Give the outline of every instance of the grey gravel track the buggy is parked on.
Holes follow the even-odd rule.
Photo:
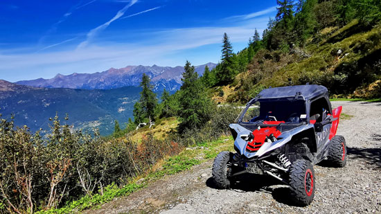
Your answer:
[[[333,102],[339,105],[349,115],[337,133],[346,138],[348,162],[345,168],[314,166],[309,206],[292,206],[287,186],[267,176],[245,175],[218,190],[213,161],[207,161],[87,213],[381,213],[381,103]]]

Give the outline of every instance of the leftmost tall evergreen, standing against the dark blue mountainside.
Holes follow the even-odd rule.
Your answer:
[[[142,123],[145,118],[154,120],[154,109],[157,105],[157,98],[152,91],[153,86],[150,84],[150,77],[143,73],[140,86],[142,91],[140,93],[139,102],[134,105],[134,118],[136,123]]]

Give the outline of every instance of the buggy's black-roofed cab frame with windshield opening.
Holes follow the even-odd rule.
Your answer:
[[[258,116],[251,118],[250,121],[243,120],[253,107],[258,109]],[[258,126],[296,127],[319,123],[332,114],[326,87],[306,84],[264,89],[256,98],[247,102],[236,123],[249,130],[254,130]],[[278,121],[278,123],[263,123],[264,121]]]

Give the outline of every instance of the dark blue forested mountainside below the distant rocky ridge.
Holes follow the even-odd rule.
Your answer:
[[[134,103],[139,100],[141,88],[118,89],[49,89],[30,87],[0,80],[0,114],[2,118],[15,116],[15,125],[27,125],[31,131],[49,129],[49,118],[57,113],[61,124],[92,130],[100,134],[114,132],[114,120],[123,124],[133,118]],[[64,121],[66,114],[69,121]]]

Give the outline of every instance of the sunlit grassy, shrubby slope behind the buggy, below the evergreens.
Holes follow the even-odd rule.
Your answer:
[[[322,84],[331,94],[352,98],[381,96],[381,27],[354,33],[335,41],[335,37],[358,28],[357,19],[343,28],[324,28],[303,48],[290,51],[258,51],[231,84],[228,102],[246,102],[265,87],[294,84]],[[348,34],[348,33],[347,33]]]

